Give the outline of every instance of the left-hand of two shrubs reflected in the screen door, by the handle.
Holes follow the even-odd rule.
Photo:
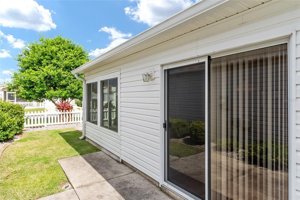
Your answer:
[[[185,119],[170,118],[171,138],[183,138],[189,133],[189,123]]]

